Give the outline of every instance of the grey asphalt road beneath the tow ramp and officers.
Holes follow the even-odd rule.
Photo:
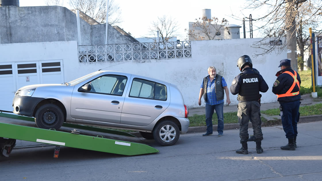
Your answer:
[[[236,154],[241,144],[234,129],[223,137],[181,135],[170,147],[149,140],[160,152],[132,157],[62,147],[53,159],[54,146],[14,149],[0,158],[0,180],[322,180],[322,121],[298,124],[295,151],[279,148],[287,144],[281,126],[262,131],[262,154],[255,142],[248,144],[250,154]]]

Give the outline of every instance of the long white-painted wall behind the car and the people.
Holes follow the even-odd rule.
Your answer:
[[[64,81],[71,81],[80,76],[99,69],[124,71],[167,81],[178,86],[188,108],[198,106],[198,96],[203,77],[207,76],[207,68],[215,66],[217,73],[227,81],[228,88],[236,75],[240,73],[236,66],[237,59],[244,55],[259,53],[260,49],[252,48],[252,44],[260,39],[204,40],[192,41],[192,58],[79,63],[77,42],[43,42],[0,44],[1,62],[63,60]],[[275,73],[279,61],[286,58],[282,54],[267,54],[252,57],[253,67],[260,71],[269,90],[262,93],[262,102],[276,101],[271,92],[276,80]],[[237,104],[237,95],[230,94],[232,105]],[[226,96],[225,96],[226,102]],[[204,102],[202,104],[204,106]]]

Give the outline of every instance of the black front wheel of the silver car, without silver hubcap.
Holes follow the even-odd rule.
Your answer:
[[[36,111],[35,122],[38,128],[59,129],[64,122],[64,114],[55,104],[45,104]]]

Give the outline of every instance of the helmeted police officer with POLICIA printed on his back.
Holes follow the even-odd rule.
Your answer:
[[[238,94],[238,122],[239,122],[239,136],[242,148],[236,150],[239,154],[248,154],[248,122],[249,120],[253,126],[253,132],[256,142],[256,152],[263,153],[261,148],[261,140],[263,134],[261,131],[260,119],[260,97],[259,92],[266,92],[268,85],[260,75],[259,71],[252,68],[253,64],[248,55],[239,57],[237,67],[242,72],[235,77],[230,86],[230,91],[233,95]]]

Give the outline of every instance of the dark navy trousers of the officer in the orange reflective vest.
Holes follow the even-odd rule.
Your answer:
[[[280,102],[282,125],[286,138],[294,138],[298,135],[298,109],[300,101]]]

